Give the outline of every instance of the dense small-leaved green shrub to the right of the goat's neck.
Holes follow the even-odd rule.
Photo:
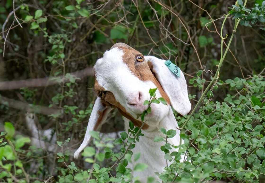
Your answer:
[[[178,152],[165,154],[165,159],[173,163],[159,175],[162,181],[183,181],[190,177],[189,181],[198,182],[201,178],[234,177],[257,182],[265,173],[265,106],[260,101],[265,97],[265,81],[254,75],[248,80],[235,78],[226,83],[239,92],[228,94],[222,103],[205,99],[187,124],[190,133],[180,134],[183,143],[178,146]],[[180,124],[185,119],[179,118]],[[161,131],[168,135],[165,129]],[[169,153],[171,146],[166,143],[161,150]],[[179,161],[181,154],[187,157],[185,162]]]

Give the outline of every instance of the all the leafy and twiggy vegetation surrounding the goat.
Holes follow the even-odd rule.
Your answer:
[[[91,68],[116,42],[175,62],[198,104],[192,115],[175,114],[183,143],[172,154],[174,144],[161,147],[173,162],[161,182],[263,182],[264,11],[262,0],[2,0],[1,182],[137,181],[131,171],[146,166],[130,149],[141,133],[132,124],[121,133],[116,110],[73,159],[96,97]],[[155,141],[175,135],[161,131]],[[184,152],[192,164],[179,163]]]

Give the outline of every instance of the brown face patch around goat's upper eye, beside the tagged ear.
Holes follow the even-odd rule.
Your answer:
[[[136,51],[135,49],[123,49],[123,62],[126,63],[126,65],[129,67],[131,72],[140,80],[142,81],[151,81],[153,82],[156,87],[158,88],[161,96],[166,100],[168,104],[170,104],[169,97],[167,96],[166,92],[163,90],[161,84],[157,81],[154,74],[152,73],[153,65],[151,62],[146,62],[145,60],[143,62],[136,61],[137,56],[144,56]]]

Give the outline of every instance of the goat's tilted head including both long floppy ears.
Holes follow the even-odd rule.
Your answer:
[[[164,62],[165,60],[153,56],[144,57],[124,43],[116,43],[104,53],[103,58],[98,59],[93,68],[98,98],[89,118],[84,141],[74,158],[89,143],[89,131],[102,125],[112,108],[118,108],[135,126],[141,126],[142,121],[137,116],[148,107],[143,103],[150,99],[150,88],[158,88],[156,97],[163,97],[167,105],[151,104],[151,113],[144,117],[144,130],[149,126],[158,126],[169,113],[170,104],[182,115],[190,111],[191,104],[183,73],[177,78]]]

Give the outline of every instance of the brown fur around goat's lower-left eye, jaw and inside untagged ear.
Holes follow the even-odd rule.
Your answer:
[[[99,85],[99,83],[96,79],[95,79],[95,90],[105,91],[105,89]],[[107,91],[105,93],[105,97],[102,98],[101,101],[102,101],[102,105],[104,105],[104,106],[111,106],[112,108],[117,108],[124,117],[126,117],[127,119],[129,119],[133,122],[134,126],[138,126],[138,127],[142,126],[142,121],[134,119],[126,111],[126,109],[115,99],[113,93]],[[105,111],[106,111],[106,109],[103,112],[99,111],[100,117],[99,117],[98,121],[96,122],[95,129],[98,128],[98,126],[100,125],[100,121],[102,120]],[[149,126],[147,124],[144,124],[143,130],[148,129],[148,127]]]

